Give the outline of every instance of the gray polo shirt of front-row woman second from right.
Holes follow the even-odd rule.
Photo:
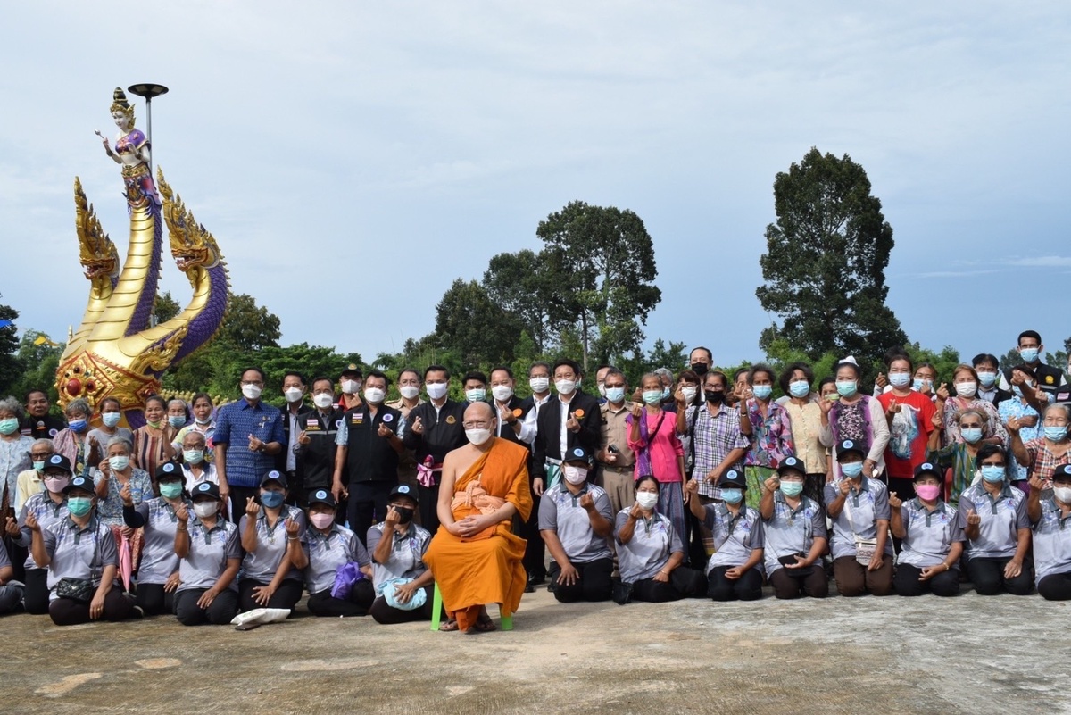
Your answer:
[[[976,484],[960,495],[960,523],[966,529],[967,512],[982,517],[978,524],[978,538],[964,544],[967,559],[1010,559],[1019,546],[1019,530],[1030,528],[1026,513],[1026,495],[1007,482],[994,499],[985,487]]]

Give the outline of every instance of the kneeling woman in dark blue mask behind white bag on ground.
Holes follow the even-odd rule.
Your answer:
[[[293,566],[301,549],[305,515],[297,506],[283,504],[286,477],[272,470],[260,480],[260,504],[251,497],[245,516],[238,524],[242,535],[242,578],[238,582],[238,605],[254,608],[288,608],[301,600],[304,584]]]

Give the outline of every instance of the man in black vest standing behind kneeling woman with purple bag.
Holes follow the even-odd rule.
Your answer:
[[[313,380],[313,406],[301,419],[301,431],[298,432],[297,457],[298,471],[304,482],[303,497],[307,502],[308,495],[323,489],[332,491],[334,485],[335,436],[342,424],[342,412],[334,405],[334,380],[329,377],[318,377]],[[348,482],[343,472],[343,486]],[[336,500],[337,501],[337,500]],[[305,503],[303,502],[303,503]],[[335,521],[346,521],[346,508],[343,502],[337,502]]]

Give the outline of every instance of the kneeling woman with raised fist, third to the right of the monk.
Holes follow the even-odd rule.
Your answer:
[[[699,482],[685,485],[688,507],[714,539],[707,564],[707,595],[714,600],[755,600],[763,597],[763,519],[743,503],[748,488],[743,472],[727,470],[718,480],[722,503],[699,503]]]

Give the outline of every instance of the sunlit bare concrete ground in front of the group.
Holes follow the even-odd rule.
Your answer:
[[[246,633],[21,614],[0,620],[0,712],[1059,713],[1069,620],[1071,604],[966,588],[628,606],[540,590],[513,632],[480,635],[303,607]]]

